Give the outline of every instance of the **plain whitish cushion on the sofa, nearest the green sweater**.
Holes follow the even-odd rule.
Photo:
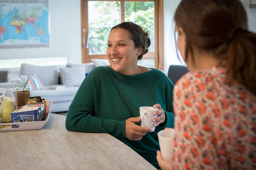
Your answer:
[[[66,87],[80,86],[85,78],[83,66],[60,68],[62,83]]]

